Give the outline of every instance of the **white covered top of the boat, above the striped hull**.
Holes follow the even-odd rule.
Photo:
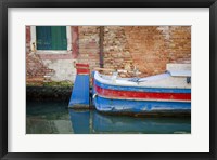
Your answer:
[[[117,74],[104,76],[95,71],[94,79],[101,83],[123,86],[142,86],[142,88],[178,88],[191,89],[190,64],[168,65],[165,74],[150,76],[145,78],[119,78]]]

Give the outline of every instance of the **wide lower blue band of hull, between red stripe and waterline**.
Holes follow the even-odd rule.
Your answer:
[[[97,96],[95,108],[104,112],[183,112],[191,111],[190,102],[149,102],[130,99],[110,99]]]

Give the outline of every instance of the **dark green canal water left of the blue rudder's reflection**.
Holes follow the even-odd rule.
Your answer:
[[[27,102],[27,134],[72,134],[67,104],[61,102]]]

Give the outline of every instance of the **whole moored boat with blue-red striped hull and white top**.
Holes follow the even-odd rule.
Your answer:
[[[92,101],[104,114],[190,116],[191,64],[167,64],[165,72],[145,78],[94,71]]]

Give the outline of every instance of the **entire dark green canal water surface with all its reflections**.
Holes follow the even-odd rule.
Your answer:
[[[190,134],[191,118],[138,118],[73,110],[65,102],[27,102],[27,134]]]

